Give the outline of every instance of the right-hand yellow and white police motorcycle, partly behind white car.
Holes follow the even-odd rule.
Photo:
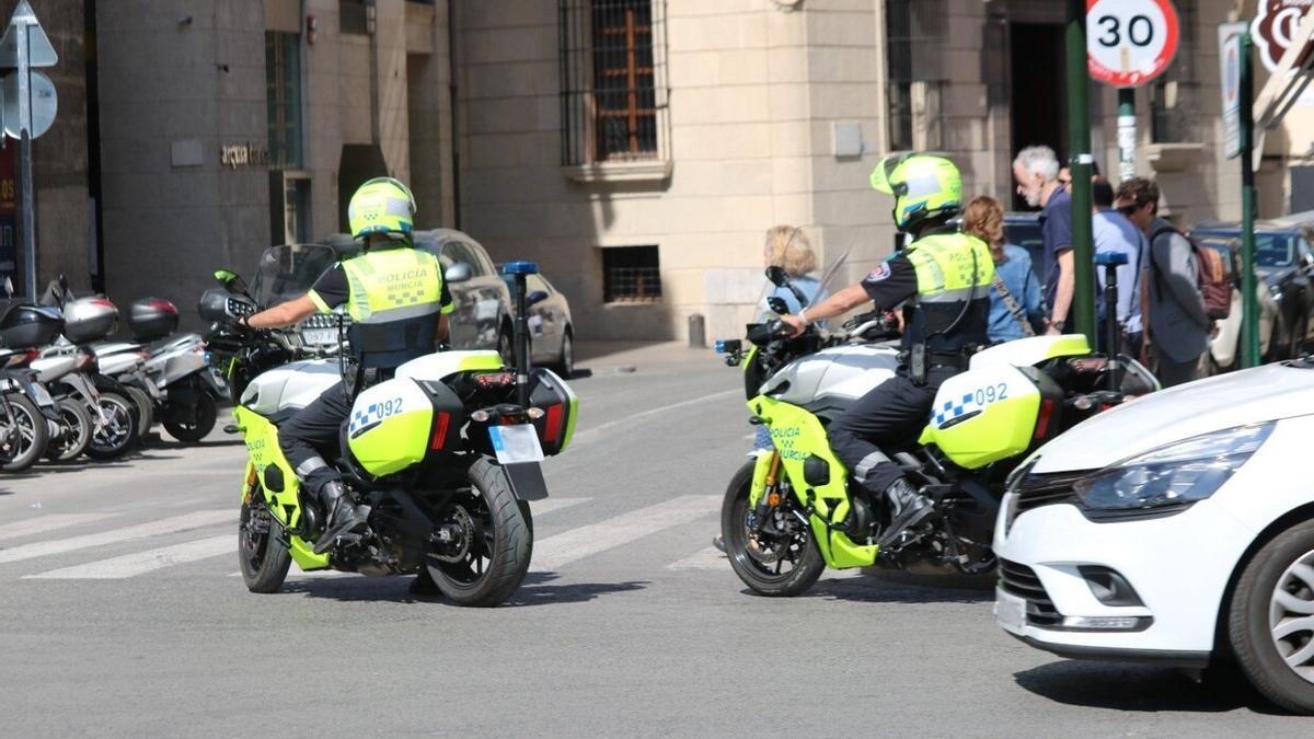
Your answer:
[[[892,323],[890,314],[869,313],[846,323],[840,341],[867,331],[887,337]],[[966,372],[941,385],[921,435],[891,450],[936,513],[882,548],[884,497],[850,484],[827,427],[892,375],[897,359],[882,372],[851,372],[838,362],[808,367],[834,342],[815,325],[790,338],[777,318],[750,325],[748,345],[719,346],[728,364],[745,367],[750,422],[765,426],[773,444],[732,477],[721,505],[731,565],[758,594],[804,593],[827,567],[992,571],[989,546],[1009,473],[1064,430],[1159,388],[1139,363],[1096,355],[1083,335],[1018,339],[974,354]]]

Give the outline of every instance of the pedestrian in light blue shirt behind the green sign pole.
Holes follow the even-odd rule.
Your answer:
[[[1096,254],[1123,254],[1127,263],[1117,268],[1118,274],[1118,314],[1116,317],[1122,329],[1123,343],[1121,351],[1131,355],[1141,355],[1141,272],[1146,252],[1146,234],[1126,216],[1113,208],[1113,185],[1104,178],[1095,178],[1091,181],[1091,196],[1095,204],[1095,217],[1091,226],[1095,235]],[[1108,316],[1105,316],[1105,301],[1102,298],[1104,270],[1096,270],[1101,298],[1096,304],[1099,308],[1100,330],[1099,342],[1108,337]]]

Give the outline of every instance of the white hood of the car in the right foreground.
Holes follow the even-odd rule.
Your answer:
[[[1101,413],[1035,452],[1031,472],[1099,469],[1190,437],[1314,414],[1314,367],[1268,364],[1188,383]]]

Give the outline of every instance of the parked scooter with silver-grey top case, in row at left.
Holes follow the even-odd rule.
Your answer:
[[[101,296],[74,297],[63,275],[50,281],[39,302],[64,320],[62,335],[26,363],[60,410],[59,433],[46,456],[60,462],[83,454],[96,460],[118,459],[139,441],[145,397],[141,388],[129,389],[105,373],[92,348],[117,330],[118,308]],[[145,381],[139,368],[141,359],[133,358],[125,373]]]

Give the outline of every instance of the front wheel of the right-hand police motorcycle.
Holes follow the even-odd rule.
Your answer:
[[[754,593],[769,597],[792,597],[803,594],[816,584],[821,573],[825,572],[825,560],[821,551],[812,540],[812,529],[804,527],[802,534],[796,534],[788,543],[796,559],[794,567],[787,572],[783,565],[787,561],[783,556],[775,560],[775,567],[754,558],[749,551],[750,538],[748,529],[749,492],[753,488],[753,468],[756,460],[749,460],[738,472],[731,477],[731,484],[725,489],[725,500],[721,502],[721,539],[725,542],[725,556],[731,560],[735,575]],[[786,497],[782,508],[792,505],[795,500]],[[761,551],[761,548],[758,548]]]

